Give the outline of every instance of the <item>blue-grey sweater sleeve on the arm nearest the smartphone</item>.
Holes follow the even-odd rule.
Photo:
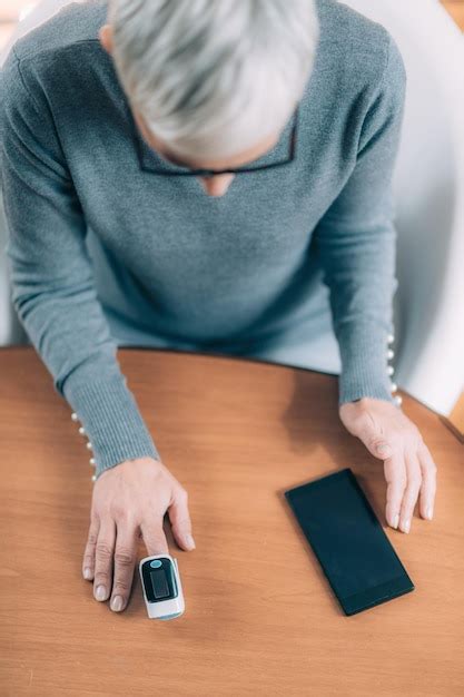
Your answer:
[[[339,405],[363,396],[394,401],[387,373],[397,288],[392,176],[405,87],[404,62],[388,35],[383,72],[361,127],[356,164],[315,230],[342,362]]]

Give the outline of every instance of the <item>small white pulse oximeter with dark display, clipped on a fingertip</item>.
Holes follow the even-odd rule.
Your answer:
[[[150,619],[174,619],[182,615],[185,601],[177,559],[170,554],[144,557],[139,572]]]

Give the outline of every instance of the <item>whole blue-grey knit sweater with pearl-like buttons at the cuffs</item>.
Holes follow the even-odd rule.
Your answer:
[[[246,355],[305,322],[320,272],[342,360],[339,403],[393,399],[391,181],[405,69],[381,24],[335,0],[317,8],[296,159],[237,175],[223,197],[207,196],[196,177],[151,170],[182,168],[134,129],[98,40],[106,2],[66,7],[8,56],[0,164],[12,298],[86,430],[97,477],[124,460],[160,458],[120,371],[109,312],[172,347]],[[292,126],[256,165],[287,156]],[[90,228],[112,274],[99,288]]]

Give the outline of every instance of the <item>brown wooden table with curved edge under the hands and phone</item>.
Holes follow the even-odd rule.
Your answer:
[[[2,348],[2,697],[464,695],[464,450],[436,414],[402,393],[438,465],[435,518],[404,534],[385,523],[382,461],[339,422],[336,377],[181,351],[119,361],[189,492],[196,550],[165,523],[185,615],[149,620],[137,570],[124,612],[93,599],[86,439],[34,350]],[[283,497],[345,467],[416,585],[352,617]]]

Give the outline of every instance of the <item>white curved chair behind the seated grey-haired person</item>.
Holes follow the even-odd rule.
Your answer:
[[[20,22],[9,47],[68,2],[42,1]],[[464,39],[438,0],[346,0],[346,4],[388,29],[406,66],[405,119],[394,176],[398,230],[394,380],[447,415],[464,384]],[[0,243],[3,267],[1,229]],[[4,281],[0,322],[1,317],[0,344],[16,343],[20,330]],[[322,370],[329,367],[324,364]]]

